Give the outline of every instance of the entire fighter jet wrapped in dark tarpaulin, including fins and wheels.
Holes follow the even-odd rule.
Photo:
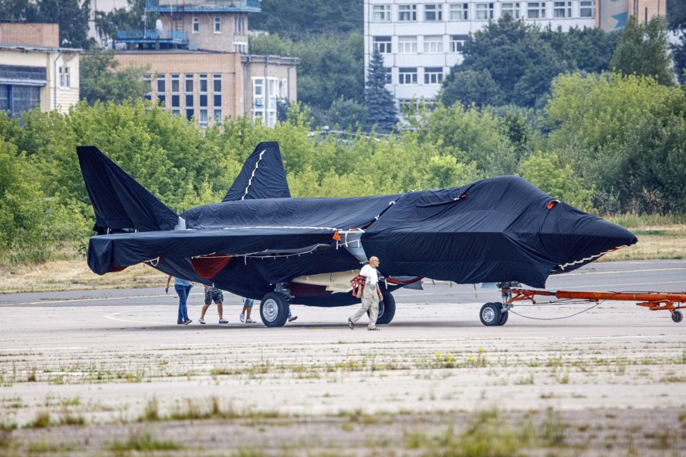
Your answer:
[[[267,326],[290,303],[359,300],[347,280],[381,261],[391,292],[433,278],[544,287],[603,254],[636,243],[620,226],[585,214],[516,176],[406,194],[292,198],[279,145],[260,143],[224,201],[177,215],[94,146],[77,148],[96,214],[88,264],[95,273],[146,262],[173,276],[262,300]]]

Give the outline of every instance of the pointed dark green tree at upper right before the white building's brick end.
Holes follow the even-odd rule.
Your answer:
[[[651,76],[660,84],[674,84],[672,56],[667,30],[660,18],[639,24],[632,16],[620,32],[620,41],[610,64],[622,74]]]

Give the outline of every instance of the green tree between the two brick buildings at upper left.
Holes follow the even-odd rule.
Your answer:
[[[144,67],[129,67],[116,71],[119,62],[114,51],[91,51],[81,58],[81,98],[94,104],[96,101],[141,99],[150,91],[149,83],[143,81]]]

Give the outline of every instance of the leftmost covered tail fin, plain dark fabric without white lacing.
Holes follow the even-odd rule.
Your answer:
[[[172,230],[179,216],[95,146],[78,146],[81,174],[95,211],[94,230]]]

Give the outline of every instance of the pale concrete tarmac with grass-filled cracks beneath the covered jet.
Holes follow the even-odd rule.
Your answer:
[[[547,286],[686,291],[686,261],[595,263]],[[297,321],[266,328],[256,303],[258,322],[245,325],[229,293],[229,324],[217,323],[213,305],[201,326],[201,290],[189,298],[189,326],[176,325],[177,297],[162,283],[0,295],[0,422],[26,425],[65,408],[87,423],[134,422],[152,401],[164,415],[212,398],[235,411],[319,417],[686,411],[686,321],[634,303],[608,301],[569,318],[592,304],[523,304],[507,325],[485,327],[479,308],[499,291],[427,283],[394,293],[394,321],[368,332],[364,319],[347,328],[349,307],[292,306]]]

